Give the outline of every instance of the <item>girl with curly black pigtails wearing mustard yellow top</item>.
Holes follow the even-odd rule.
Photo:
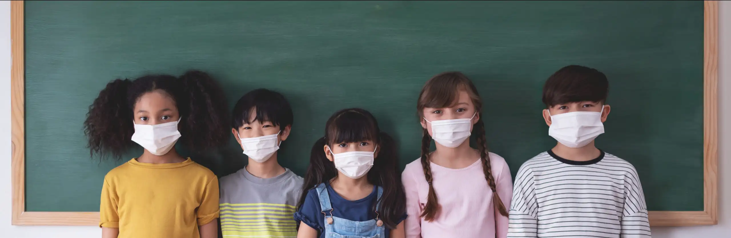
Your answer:
[[[224,145],[222,95],[200,71],[116,79],[99,92],[84,122],[91,154],[120,159],[133,141],[145,148],[104,178],[102,237],[217,237],[216,175],[179,155],[175,142],[192,152]]]

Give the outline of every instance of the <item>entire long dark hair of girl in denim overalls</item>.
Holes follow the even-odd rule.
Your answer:
[[[398,168],[398,153],[393,138],[382,132],[376,118],[361,108],[348,108],[336,112],[325,124],[325,137],[319,138],[312,146],[310,165],[307,167],[303,193],[299,205],[305,202],[307,191],[320,183],[338,176],[335,164],[325,156],[322,148],[327,144],[353,143],[373,140],[379,148],[373,167],[368,171],[368,183],[383,188],[379,215],[389,229],[396,228],[396,221],[406,212],[406,195],[401,184]],[[374,204],[375,206],[375,204]],[[375,207],[374,207],[375,208]]]

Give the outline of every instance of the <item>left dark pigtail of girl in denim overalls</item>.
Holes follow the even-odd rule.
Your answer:
[[[327,139],[323,137],[317,139],[314,146],[312,146],[312,150],[310,152],[310,164],[307,166],[305,181],[302,184],[302,191],[304,192],[300,197],[298,207],[305,202],[308,190],[314,189],[320,183],[330,181],[330,179],[335,178],[338,175],[338,170],[335,168],[335,164],[327,159],[325,151],[322,150],[326,143]]]

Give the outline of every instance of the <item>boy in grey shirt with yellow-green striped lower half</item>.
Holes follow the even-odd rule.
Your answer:
[[[279,92],[258,89],[238,100],[232,116],[231,132],[249,164],[221,178],[221,234],[297,237],[292,214],[303,179],[277,162],[292,130],[292,108]]]

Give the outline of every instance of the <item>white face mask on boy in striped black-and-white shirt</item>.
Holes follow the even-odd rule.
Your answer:
[[[604,133],[603,112],[604,106],[602,106],[602,112],[574,111],[550,116],[551,124],[548,127],[548,135],[564,146],[571,148],[586,146],[591,143],[591,140]],[[550,115],[550,111],[548,114]]]

